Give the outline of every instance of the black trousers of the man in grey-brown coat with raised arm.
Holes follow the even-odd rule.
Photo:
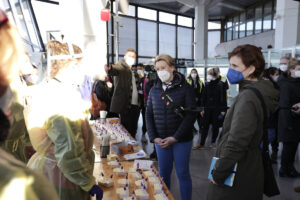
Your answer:
[[[140,109],[136,105],[131,105],[130,109],[121,113],[121,123],[133,138],[135,138],[136,135],[139,116]]]

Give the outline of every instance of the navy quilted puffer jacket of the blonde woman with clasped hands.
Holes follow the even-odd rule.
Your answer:
[[[190,141],[193,139],[193,126],[196,115],[187,112],[184,118],[181,118],[174,112],[174,109],[167,108],[165,102],[161,99],[164,92],[160,80],[150,90],[147,109],[146,124],[150,141],[155,138],[175,137],[179,142]],[[166,89],[171,99],[176,104],[184,108],[195,106],[195,96],[192,87],[186,82],[184,76],[174,72],[174,79],[170,87]]]

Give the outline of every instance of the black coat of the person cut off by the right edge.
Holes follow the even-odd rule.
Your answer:
[[[281,76],[278,81],[280,88],[278,136],[281,142],[300,142],[300,116],[289,108],[300,102],[300,78]]]

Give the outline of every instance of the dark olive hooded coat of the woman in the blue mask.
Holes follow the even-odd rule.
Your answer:
[[[270,81],[242,81],[241,91],[225,117],[216,150],[220,158],[212,176],[218,184],[210,184],[208,200],[260,200],[263,198],[263,164],[260,143],[263,136],[263,108],[255,93],[264,97],[268,113],[278,108],[279,92]],[[225,179],[237,163],[233,187],[224,186]]]

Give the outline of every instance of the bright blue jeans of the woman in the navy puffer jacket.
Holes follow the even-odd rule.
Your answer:
[[[159,174],[164,179],[168,188],[170,188],[171,185],[173,161],[175,162],[176,173],[180,185],[181,200],[192,199],[192,179],[189,165],[191,148],[192,141],[178,142],[169,148],[160,148],[155,144]]]

